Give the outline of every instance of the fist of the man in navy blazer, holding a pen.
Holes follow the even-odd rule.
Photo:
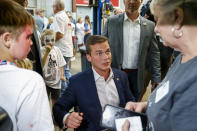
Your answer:
[[[72,112],[66,119],[65,124],[68,128],[78,128],[83,120],[83,113]]]

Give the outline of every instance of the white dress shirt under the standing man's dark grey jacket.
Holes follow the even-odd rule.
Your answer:
[[[125,13],[123,22],[123,69],[137,69],[140,45],[140,19],[132,21]]]

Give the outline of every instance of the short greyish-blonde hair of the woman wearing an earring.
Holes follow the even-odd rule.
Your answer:
[[[176,22],[176,9],[181,8],[184,13],[182,24],[197,24],[197,0],[152,0],[150,8],[153,14],[161,12],[160,17],[167,23]]]

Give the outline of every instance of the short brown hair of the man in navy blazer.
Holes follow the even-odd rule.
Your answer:
[[[88,38],[88,40],[86,41],[86,54],[90,54],[91,52],[91,45],[95,45],[95,44],[100,44],[103,42],[108,42],[108,38],[105,36],[100,36],[100,35],[92,35]]]

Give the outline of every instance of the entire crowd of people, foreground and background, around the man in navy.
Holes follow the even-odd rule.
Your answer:
[[[105,105],[147,115],[148,131],[195,131],[196,0],[123,0],[101,35],[54,0],[33,16],[28,0],[0,1],[0,109],[13,131],[106,130]],[[18,15],[20,14],[20,15]],[[71,76],[81,46],[91,67]],[[174,55],[178,52],[178,55]],[[151,81],[152,93],[140,102]],[[52,101],[52,110],[49,101]],[[73,112],[69,112],[74,108]],[[0,123],[2,129],[3,122]],[[122,131],[129,131],[128,120]]]

